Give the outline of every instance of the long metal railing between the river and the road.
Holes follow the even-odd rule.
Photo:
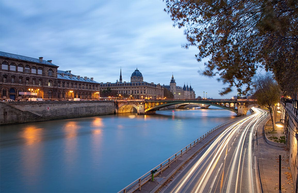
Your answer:
[[[253,112],[254,113],[254,112]],[[147,183],[148,181],[151,180],[152,177],[152,173],[151,171],[156,170],[156,173],[153,174],[154,177],[158,174],[162,174],[162,172],[167,169],[168,167],[170,167],[170,164],[173,163],[174,161],[176,162],[177,159],[179,157],[182,157],[185,153],[187,153],[188,150],[190,150],[193,146],[195,146],[196,144],[198,144],[199,142],[201,142],[204,138],[206,138],[208,135],[210,135],[212,132],[214,132],[216,129],[221,128],[224,125],[227,125],[229,123],[238,121],[240,119],[243,119],[245,117],[248,117],[251,114],[246,114],[244,116],[241,117],[237,117],[235,119],[231,119],[229,121],[226,121],[220,125],[217,125],[216,127],[212,128],[210,131],[208,131],[207,133],[205,133],[204,135],[202,135],[200,138],[194,140],[193,142],[191,142],[189,145],[187,145],[185,148],[181,149],[180,151],[178,151],[177,153],[175,153],[173,156],[169,157],[168,159],[166,159],[164,162],[162,162],[161,164],[157,165],[156,167],[154,167],[152,170],[148,171],[147,173],[145,173],[144,175],[142,175],[140,178],[136,179],[135,181],[133,181],[132,183],[130,183],[128,186],[126,186],[125,188],[123,188],[122,190],[120,190],[118,193],[127,193],[127,192],[134,192],[137,189],[141,190],[141,187]]]

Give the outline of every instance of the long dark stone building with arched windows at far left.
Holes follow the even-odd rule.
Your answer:
[[[100,83],[71,71],[58,70],[52,60],[44,60],[0,51],[0,100],[26,98],[66,100],[99,97]]]

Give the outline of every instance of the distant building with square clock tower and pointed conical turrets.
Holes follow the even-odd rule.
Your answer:
[[[190,87],[188,87],[188,84],[187,86],[185,86],[184,83],[183,87],[176,86],[173,75],[170,81],[170,85],[164,85],[164,87],[173,93],[174,99],[195,99],[195,91],[193,90],[191,85]]]

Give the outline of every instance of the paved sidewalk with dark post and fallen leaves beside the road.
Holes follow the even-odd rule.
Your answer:
[[[289,151],[269,145],[264,139],[264,120],[257,130],[257,156],[263,192],[295,192],[292,181]],[[279,190],[279,155],[281,155],[281,191]]]

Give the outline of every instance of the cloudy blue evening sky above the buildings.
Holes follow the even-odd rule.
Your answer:
[[[188,84],[197,96],[220,96],[222,82],[202,76],[195,47],[173,27],[162,0],[0,0],[0,51],[52,60],[58,70],[97,82],[130,82],[138,68],[144,81]],[[205,92],[205,95],[203,94]]]

